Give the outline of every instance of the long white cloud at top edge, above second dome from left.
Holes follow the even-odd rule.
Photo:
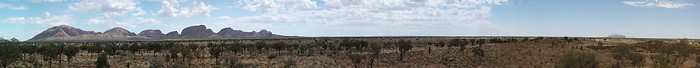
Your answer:
[[[123,16],[127,13],[133,13],[134,16],[145,14],[137,4],[132,0],[80,0],[70,4],[68,9],[101,13],[107,17]]]

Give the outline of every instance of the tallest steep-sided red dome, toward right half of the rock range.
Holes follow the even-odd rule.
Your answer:
[[[201,38],[201,37],[209,37],[215,35],[214,31],[211,31],[211,29],[207,29],[207,26],[204,25],[196,25],[196,26],[190,26],[185,29],[182,29],[182,33],[180,34],[180,37],[183,38]]]

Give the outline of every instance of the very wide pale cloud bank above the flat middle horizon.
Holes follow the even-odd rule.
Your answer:
[[[229,18],[235,23],[325,23],[357,25],[489,26],[491,6],[508,0],[241,0],[261,15]]]

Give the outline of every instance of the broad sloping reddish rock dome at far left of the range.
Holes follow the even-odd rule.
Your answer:
[[[49,29],[44,30],[43,32],[35,35],[29,40],[42,40],[46,38],[61,38],[61,37],[74,37],[74,36],[80,36],[80,35],[95,35],[99,34],[94,31],[83,31],[81,29],[71,27],[68,25],[60,25],[60,26],[55,26],[51,27]]]

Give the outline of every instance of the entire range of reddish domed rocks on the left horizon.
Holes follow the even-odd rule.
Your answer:
[[[274,38],[292,37],[273,34],[265,29],[259,32],[245,32],[232,28],[221,29],[218,33],[205,25],[195,25],[182,29],[182,33],[171,31],[163,34],[158,29],[148,29],[135,34],[121,27],[114,27],[104,33],[85,31],[68,25],[54,26],[37,34],[27,41],[79,41],[79,40],[159,40],[159,39],[196,39],[196,38]]]

